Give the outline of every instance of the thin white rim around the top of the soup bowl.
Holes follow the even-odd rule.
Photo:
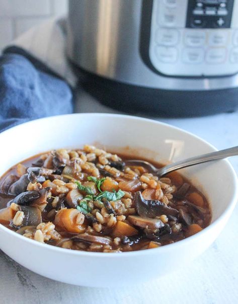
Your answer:
[[[114,113],[72,113],[72,114],[64,114],[64,115],[55,115],[55,116],[49,116],[49,117],[43,117],[43,118],[38,118],[38,119],[34,119],[31,121],[27,121],[25,123],[13,126],[3,132],[0,133],[0,138],[2,136],[2,134],[8,134],[11,132],[14,132],[15,129],[17,128],[21,128],[24,125],[31,125],[36,122],[36,121],[47,121],[47,120],[53,120],[53,119],[58,119],[58,117],[61,118],[67,118],[67,117],[71,117],[71,116],[91,116],[91,117],[103,117],[103,116],[111,116],[111,117],[118,117],[118,118],[124,118],[124,119],[129,119],[129,120],[137,120],[137,121],[147,121],[150,123],[154,123],[157,125],[163,125],[165,127],[168,127],[170,129],[174,129],[174,130],[178,130],[180,132],[183,132],[185,134],[188,134],[190,136],[195,137],[196,139],[198,139],[199,141],[202,141],[203,143],[205,143],[209,148],[211,148],[211,151],[216,151],[217,148],[214,147],[212,144],[210,144],[209,142],[207,142],[206,140],[202,139],[201,137],[186,131],[184,129],[181,129],[179,127],[170,125],[168,123],[165,122],[161,122],[161,121],[157,121],[154,119],[149,119],[149,118],[144,118],[144,117],[140,117],[140,116],[132,116],[132,115],[124,115],[124,114],[114,114]],[[202,231],[200,231],[199,233],[188,237],[186,239],[180,240],[178,242],[172,243],[172,244],[168,244],[168,245],[164,245],[162,247],[158,247],[158,248],[153,248],[153,250],[136,250],[136,251],[127,251],[127,252],[114,252],[114,253],[107,253],[107,252],[88,252],[88,251],[77,251],[77,250],[70,250],[70,249],[66,249],[66,248],[60,248],[60,247],[56,247],[56,246],[52,246],[49,244],[45,244],[45,243],[40,243],[37,242],[35,240],[31,240],[29,238],[23,237],[20,234],[17,234],[15,231],[10,230],[9,228],[5,227],[3,224],[0,224],[0,231],[4,231],[6,233],[9,233],[10,235],[16,237],[16,238],[20,238],[21,240],[24,240],[24,242],[28,242],[29,245],[32,246],[37,246],[39,248],[42,249],[48,249],[48,250],[53,250],[56,251],[58,253],[62,253],[62,254],[69,254],[69,255],[74,255],[74,256],[78,256],[78,257],[98,257],[98,258],[126,258],[126,257],[133,257],[133,256],[140,256],[140,255],[148,255],[148,254],[159,254],[159,253],[166,253],[167,251],[173,250],[175,249],[175,247],[179,248],[181,246],[184,246],[184,244],[186,243],[192,243],[193,240],[195,240],[195,238],[197,238],[198,236],[203,236],[204,234],[206,234],[208,231],[210,231],[211,229],[213,229],[215,226],[217,226],[219,224],[220,221],[222,221],[223,218],[225,218],[227,215],[229,216],[232,212],[232,210],[235,207],[235,204],[238,200],[238,178],[237,175],[233,169],[233,167],[231,166],[230,162],[227,159],[222,160],[223,162],[226,163],[226,166],[229,168],[229,170],[231,171],[231,177],[233,180],[233,183],[235,184],[235,187],[233,189],[233,197],[230,200],[230,202],[228,203],[226,209],[222,212],[222,214],[215,219],[211,224],[209,224],[207,227],[205,227]],[[1,246],[0,246],[1,247]]]

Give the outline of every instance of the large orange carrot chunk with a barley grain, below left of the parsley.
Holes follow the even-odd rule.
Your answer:
[[[55,215],[54,223],[61,229],[66,230],[68,232],[83,233],[86,230],[86,225],[76,223],[78,213],[80,213],[80,211],[74,208],[61,209]]]

